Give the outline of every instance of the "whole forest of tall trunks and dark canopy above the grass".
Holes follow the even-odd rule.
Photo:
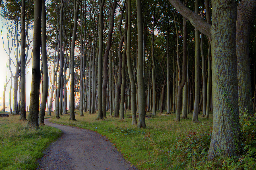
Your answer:
[[[137,128],[147,128],[148,115],[200,124],[212,114],[207,160],[239,158],[241,117],[256,124],[255,17],[249,0],[1,1],[10,75],[3,106],[9,84],[10,114],[26,128],[52,114],[122,122],[129,111]],[[255,146],[246,145],[253,166]]]

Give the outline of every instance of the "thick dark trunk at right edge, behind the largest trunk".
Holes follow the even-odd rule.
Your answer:
[[[256,1],[241,1],[237,9],[236,19],[236,54],[238,74],[238,106],[239,113],[248,110],[253,114],[249,37],[251,26],[256,17]]]

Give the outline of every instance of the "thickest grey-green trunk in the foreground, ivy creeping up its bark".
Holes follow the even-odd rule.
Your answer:
[[[207,158],[240,152],[236,58],[236,1],[212,1],[213,129]]]

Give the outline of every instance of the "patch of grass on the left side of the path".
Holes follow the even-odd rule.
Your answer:
[[[36,159],[41,158],[43,150],[62,134],[59,129],[48,126],[39,130],[25,129],[26,123],[19,120],[19,115],[0,118],[1,170],[35,169]]]

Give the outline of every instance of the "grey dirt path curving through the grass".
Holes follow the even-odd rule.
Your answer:
[[[131,165],[104,136],[90,130],[51,123],[63,135],[39,159],[38,170],[139,170]]]

